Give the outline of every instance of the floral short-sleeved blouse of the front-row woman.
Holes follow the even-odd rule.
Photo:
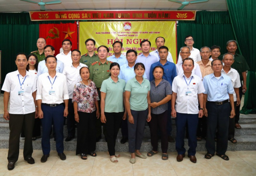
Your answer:
[[[99,94],[94,82],[83,85],[76,83],[73,91],[72,102],[77,102],[77,111],[92,113],[96,110],[95,101],[99,100]]]

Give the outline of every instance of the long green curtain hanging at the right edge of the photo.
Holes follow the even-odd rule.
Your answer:
[[[227,6],[240,53],[245,57],[250,71],[247,74],[247,92],[242,114],[256,113],[256,2],[255,0],[227,0]]]

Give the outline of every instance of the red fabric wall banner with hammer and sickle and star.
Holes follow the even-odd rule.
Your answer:
[[[75,23],[61,24],[40,24],[39,37],[46,39],[47,45],[55,48],[55,56],[60,53],[62,41],[69,39],[72,42],[72,48],[77,49],[77,25]]]

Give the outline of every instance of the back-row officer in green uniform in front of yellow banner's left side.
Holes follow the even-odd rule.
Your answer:
[[[96,42],[93,39],[85,40],[85,45],[88,53],[82,55],[80,62],[87,65],[88,68],[90,68],[90,65],[93,62],[99,61],[98,54],[94,52],[95,44]]]

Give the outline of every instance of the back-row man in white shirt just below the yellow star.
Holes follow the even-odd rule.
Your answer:
[[[71,48],[72,42],[69,39],[65,39],[62,41],[63,52],[57,54],[57,60],[60,60],[64,63],[64,66],[72,64],[71,60]]]

